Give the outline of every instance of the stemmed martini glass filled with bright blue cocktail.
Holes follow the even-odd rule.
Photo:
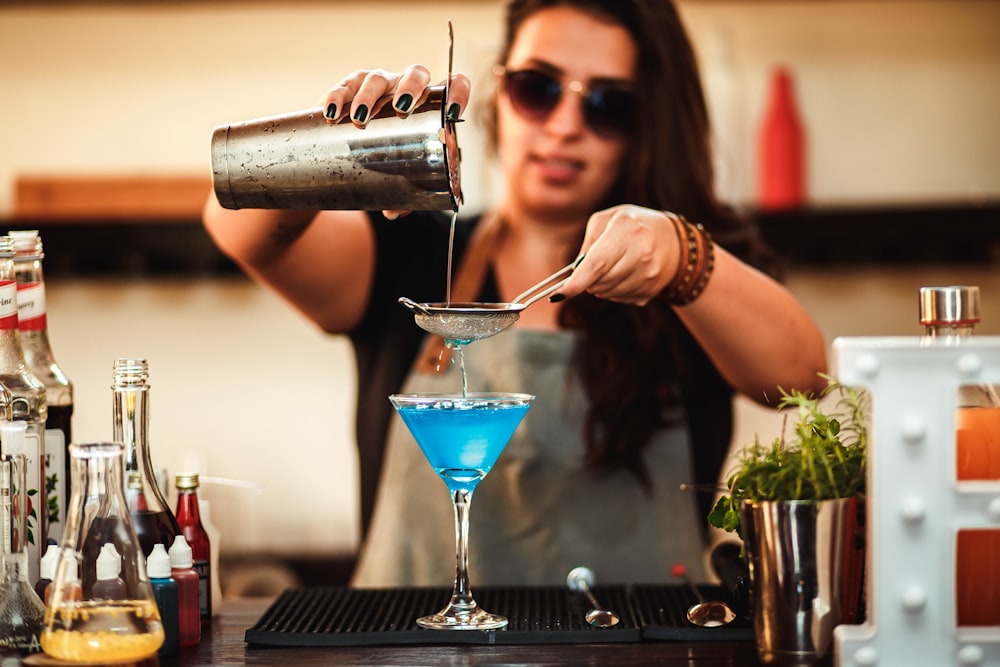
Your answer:
[[[417,619],[434,630],[495,630],[507,625],[476,603],[469,587],[472,492],[507,446],[534,396],[529,394],[393,394],[389,397],[455,508],[455,586],[444,609]]]

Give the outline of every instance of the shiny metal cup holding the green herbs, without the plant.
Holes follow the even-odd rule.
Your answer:
[[[740,510],[761,662],[815,665],[858,622],[864,547],[855,498],[747,501]]]

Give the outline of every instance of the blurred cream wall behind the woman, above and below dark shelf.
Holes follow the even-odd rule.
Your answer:
[[[1000,198],[1000,2],[684,0],[681,8],[730,201],[754,203],[757,127],[778,64],[795,77],[811,205]],[[448,19],[456,69],[483,82],[501,14],[494,0],[0,5],[0,219],[27,224],[13,217],[23,175],[207,182],[215,125],[312,106],[355,68],[421,62],[443,77]],[[460,141],[471,212],[496,191],[474,120]],[[909,240],[904,233],[899,243]],[[850,234],[836,241],[845,255],[853,243]],[[788,277],[831,341],[919,334],[916,290],[932,283],[979,284],[980,330],[1000,333],[996,261],[799,262]],[[59,276],[50,279],[49,323],[76,382],[77,440],[110,437],[112,361],[145,356],[156,462],[262,486],[203,488],[224,554],[355,549],[354,367],[343,339],[232,275]],[[741,400],[734,441],[768,439],[776,424]]]

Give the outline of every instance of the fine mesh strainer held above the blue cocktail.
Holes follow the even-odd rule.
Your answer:
[[[517,295],[510,303],[417,303],[405,296],[399,302],[413,312],[417,326],[447,341],[465,345],[494,336],[517,321],[521,311],[556,291],[566,282],[583,255],[551,276]]]

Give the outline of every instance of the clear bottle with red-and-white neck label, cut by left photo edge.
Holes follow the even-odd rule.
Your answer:
[[[24,360],[21,333],[17,328],[17,285],[14,282],[14,239],[0,236],[0,384],[10,392],[2,412],[10,421],[23,421],[24,453],[28,458],[28,578],[38,579],[48,512],[45,511],[45,385]]]

